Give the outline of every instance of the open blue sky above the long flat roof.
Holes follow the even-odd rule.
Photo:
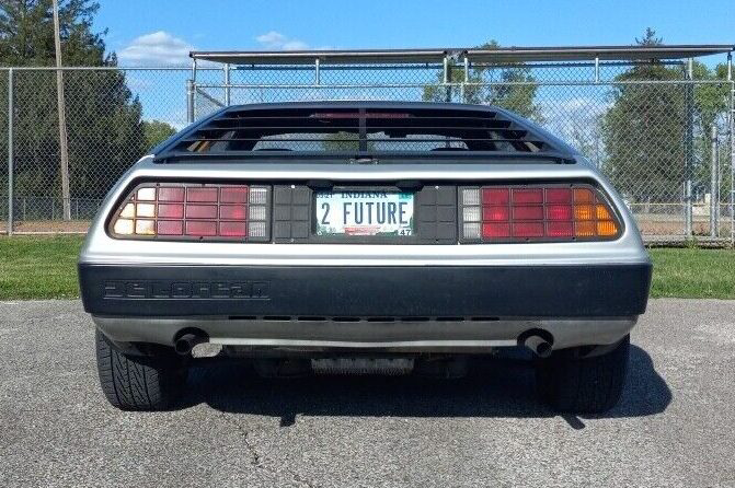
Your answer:
[[[735,44],[733,0],[100,0],[95,23],[122,65],[177,65],[191,48],[299,49]],[[712,59],[710,62],[719,62]]]

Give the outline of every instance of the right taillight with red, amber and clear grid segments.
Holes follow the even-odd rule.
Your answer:
[[[467,243],[609,241],[622,229],[587,184],[463,187],[459,211]]]

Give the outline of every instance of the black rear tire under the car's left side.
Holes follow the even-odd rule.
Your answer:
[[[122,352],[95,333],[100,384],[107,400],[120,410],[163,410],[172,405],[186,382],[186,365],[173,350],[152,356]]]

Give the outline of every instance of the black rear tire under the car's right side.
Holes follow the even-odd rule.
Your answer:
[[[538,362],[537,390],[556,411],[602,414],[622,394],[628,374],[630,336],[605,355],[579,358],[579,349],[555,351]]]

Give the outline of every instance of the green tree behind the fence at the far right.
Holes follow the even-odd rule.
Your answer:
[[[638,45],[662,44],[647,28]],[[606,172],[616,187],[635,202],[674,204],[691,177],[694,194],[709,190],[712,126],[723,125],[728,104],[724,65],[710,70],[694,61],[694,81],[685,82],[685,67],[662,62],[638,65],[616,78],[611,107],[604,115]],[[651,84],[646,81],[681,81]],[[691,165],[687,166],[687,161]],[[725,174],[725,172],[723,172]]]

